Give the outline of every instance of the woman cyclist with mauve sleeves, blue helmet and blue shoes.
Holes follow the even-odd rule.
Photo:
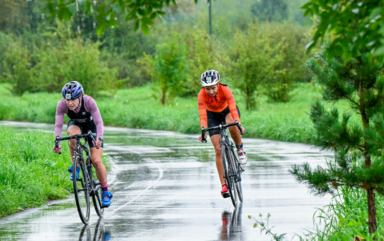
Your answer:
[[[67,83],[61,90],[63,99],[59,101],[56,107],[56,121],[55,121],[55,136],[61,137],[62,126],[64,122],[64,114],[70,118],[67,127],[67,133],[71,135],[80,135],[92,131],[96,133],[96,143],[89,141],[92,162],[96,169],[96,176],[102,188],[102,205],[111,205],[112,194],[109,192],[109,185],[106,181],[105,166],[101,161],[103,151],[103,120],[100,111],[97,108],[95,100],[83,93],[81,84],[77,81]],[[76,148],[76,140],[70,140],[70,152],[73,161],[73,148]],[[96,145],[96,146],[95,146]],[[96,149],[96,148],[98,149]],[[54,149],[55,147],[53,147]],[[61,151],[61,144],[59,142],[58,148],[54,152]],[[76,178],[79,176],[80,167],[76,168]],[[73,180],[72,166],[68,169],[71,173],[71,180]]]

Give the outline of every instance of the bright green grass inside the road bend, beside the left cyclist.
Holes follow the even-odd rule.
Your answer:
[[[0,140],[0,217],[67,198],[73,191],[69,150],[53,153],[52,134],[0,127]],[[110,165],[108,158],[103,162]]]

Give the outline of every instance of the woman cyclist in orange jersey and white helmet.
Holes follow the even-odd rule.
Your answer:
[[[200,83],[203,85],[198,95],[200,126],[204,128],[229,124],[237,120],[240,124],[240,110],[234,101],[232,91],[225,84],[219,83],[220,75],[216,70],[207,70],[201,75]],[[229,133],[236,144],[240,164],[247,163],[243,150],[241,134],[237,126],[229,127]],[[245,129],[241,127],[243,133]],[[216,167],[222,186],[221,195],[229,197],[228,187],[223,174],[223,159],[219,147],[219,130],[208,131],[210,140],[215,147]],[[201,136],[199,137],[201,141]]]

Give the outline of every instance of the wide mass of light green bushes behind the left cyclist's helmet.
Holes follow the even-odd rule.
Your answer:
[[[57,22],[56,28],[45,32],[45,38],[34,39],[31,49],[25,46],[28,40],[11,40],[3,45],[1,54],[3,82],[13,84],[13,92],[60,91],[70,81],[79,81],[86,93],[97,95],[100,90],[115,90],[116,68],[109,68],[100,61],[100,43],[83,42],[72,37],[70,26]]]

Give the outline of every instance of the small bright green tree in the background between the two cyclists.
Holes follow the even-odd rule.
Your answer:
[[[150,66],[152,81],[161,94],[161,104],[166,98],[174,98],[181,92],[182,85],[188,79],[188,60],[185,44],[180,43],[180,37],[174,35],[163,44],[156,45],[155,57],[145,55],[139,62]]]

